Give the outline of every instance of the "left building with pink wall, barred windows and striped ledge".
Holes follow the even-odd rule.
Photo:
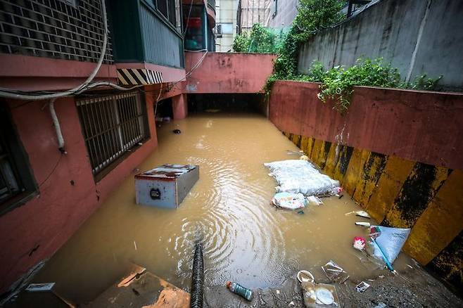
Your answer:
[[[156,148],[159,99],[186,116],[184,45],[213,50],[212,2],[200,41],[189,0],[0,1],[2,293]]]

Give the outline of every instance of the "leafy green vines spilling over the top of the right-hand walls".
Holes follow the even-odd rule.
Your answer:
[[[385,63],[382,58],[357,59],[350,68],[336,66],[326,70],[321,62],[312,63],[306,74],[298,73],[298,53],[301,44],[312,35],[338,23],[343,19],[341,0],[300,0],[298,14],[287,34],[275,34],[261,25],[254,25],[250,33],[241,34],[234,41],[234,50],[242,52],[274,52],[274,72],[267,79],[264,91],[269,97],[275,81],[297,80],[320,82],[318,98],[334,102],[334,108],[344,113],[350,105],[353,86],[381,86],[401,89],[433,90],[442,76],[431,79],[418,76],[413,82],[403,82],[397,68]]]

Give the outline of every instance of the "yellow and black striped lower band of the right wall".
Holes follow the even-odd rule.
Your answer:
[[[403,250],[463,289],[463,171],[283,132],[383,226],[411,228]]]

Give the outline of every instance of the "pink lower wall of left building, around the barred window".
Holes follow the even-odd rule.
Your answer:
[[[95,183],[74,98],[62,98],[56,101],[55,108],[68,154],[61,157],[55,171],[44,181],[61,155],[48,108],[42,110],[45,103],[21,105],[23,102],[8,101],[34,178],[37,184],[43,184],[39,195],[0,216],[0,292],[34,264],[51,257],[157,146],[153,96],[147,94],[151,139]],[[39,248],[30,255],[37,245]]]

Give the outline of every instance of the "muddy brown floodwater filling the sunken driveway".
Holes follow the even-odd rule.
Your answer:
[[[182,134],[173,134],[181,129]],[[158,129],[159,146],[139,165],[200,166],[200,179],[177,210],[137,205],[133,176],[99,207],[34,279],[56,282],[63,295],[86,302],[113,284],[130,263],[189,290],[194,243],[204,246],[205,285],[237,281],[249,288],[277,286],[300,269],[323,279],[333,259],[352,278],[375,273],[352,248],[372,222],[345,215],[360,207],[345,194],[324,198],[304,214],[270,205],[277,186],[264,162],[296,159],[298,150],[265,117],[207,113]],[[373,223],[373,222],[372,222]],[[401,254],[395,267],[405,267]],[[386,271],[384,271],[386,272]]]

